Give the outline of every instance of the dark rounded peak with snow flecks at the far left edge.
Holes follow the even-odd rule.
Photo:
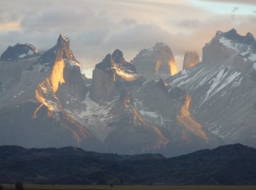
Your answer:
[[[9,46],[0,57],[1,61],[16,61],[38,55],[38,50],[31,44],[16,44]]]

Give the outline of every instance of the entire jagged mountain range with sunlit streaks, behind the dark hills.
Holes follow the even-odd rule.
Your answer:
[[[9,46],[0,57],[0,144],[78,146],[170,157],[224,144],[256,147],[256,41],[218,31],[183,70],[164,43],[126,61],[121,50],[82,75],[70,40],[40,53]]]

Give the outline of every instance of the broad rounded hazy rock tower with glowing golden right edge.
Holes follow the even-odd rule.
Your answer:
[[[140,53],[132,60],[132,64],[138,73],[147,79],[166,79],[178,72],[172,50],[163,43],[140,50]]]

